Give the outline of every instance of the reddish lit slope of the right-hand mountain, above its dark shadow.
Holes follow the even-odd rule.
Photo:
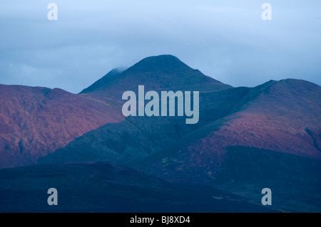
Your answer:
[[[321,159],[320,113],[320,86],[303,80],[270,81],[253,88],[239,112],[193,132],[205,136],[181,139],[177,152],[167,152],[156,166],[165,174],[175,169],[213,176],[224,162],[226,147],[236,145]]]

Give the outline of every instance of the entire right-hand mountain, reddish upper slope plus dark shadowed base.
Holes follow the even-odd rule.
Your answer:
[[[320,95],[320,86],[302,80],[260,85],[243,97],[240,110],[178,139],[138,168],[165,179],[198,179],[253,200],[268,187],[274,207],[320,212]]]

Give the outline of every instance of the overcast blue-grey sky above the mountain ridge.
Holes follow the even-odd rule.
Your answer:
[[[49,3],[58,21],[49,21]],[[272,21],[263,21],[263,3]],[[1,0],[0,83],[78,93],[109,70],[172,54],[223,83],[321,85],[320,0]]]

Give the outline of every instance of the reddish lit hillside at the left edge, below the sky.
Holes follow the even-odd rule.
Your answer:
[[[32,164],[83,133],[123,117],[61,89],[0,85],[0,168]]]

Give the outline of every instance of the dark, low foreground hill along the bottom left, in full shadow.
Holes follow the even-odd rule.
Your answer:
[[[47,204],[52,187],[58,206]],[[199,191],[203,193],[195,197]],[[214,187],[164,181],[108,162],[2,169],[0,203],[1,213],[276,211]]]

